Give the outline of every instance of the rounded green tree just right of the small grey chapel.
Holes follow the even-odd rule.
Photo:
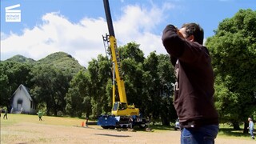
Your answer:
[[[31,79],[34,86],[30,93],[38,103],[46,104],[46,114],[65,113],[64,98],[72,78],[71,74],[50,65],[34,66],[31,74],[34,76]]]

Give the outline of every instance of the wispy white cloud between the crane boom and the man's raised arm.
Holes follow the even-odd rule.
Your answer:
[[[154,6],[150,9],[142,6],[126,6],[123,9],[123,15],[114,22],[117,39],[121,45],[127,42],[137,42],[144,54],[156,50],[158,54],[166,54],[162,46],[161,32],[154,34],[156,27],[165,21],[165,11],[174,9],[170,3],[163,4],[162,7]]]

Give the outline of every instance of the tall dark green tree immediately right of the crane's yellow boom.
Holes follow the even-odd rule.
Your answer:
[[[122,71],[124,74],[124,82],[126,86],[126,97],[129,104],[134,104],[139,108],[140,113],[148,115],[146,107],[146,98],[143,94],[143,62],[144,54],[139,49],[139,45],[130,42],[125,46],[119,47],[122,58]]]

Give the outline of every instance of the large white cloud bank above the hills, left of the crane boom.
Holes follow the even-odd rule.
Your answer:
[[[22,54],[38,60],[48,54],[64,51],[86,66],[91,58],[103,54],[104,33],[106,22],[103,18],[84,18],[79,23],[71,23],[61,14],[49,13],[42,17],[42,25],[23,30],[22,35],[10,34],[7,37],[1,34],[7,37],[1,41],[1,53]]]

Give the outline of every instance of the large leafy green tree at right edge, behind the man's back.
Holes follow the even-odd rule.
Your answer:
[[[256,11],[239,10],[214,32],[206,46],[213,58],[217,108],[221,119],[239,129],[256,110]]]

